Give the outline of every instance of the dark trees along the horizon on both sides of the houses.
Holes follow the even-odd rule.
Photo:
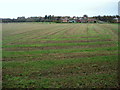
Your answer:
[[[75,17],[75,16],[74,16]],[[71,18],[70,16],[62,17],[62,16],[54,16],[54,15],[45,15],[44,17],[17,17],[17,19],[10,19],[10,18],[3,18],[2,22],[8,23],[8,22],[60,22],[61,18]],[[79,17],[77,17],[79,18]],[[89,17],[88,17],[89,18]],[[93,16],[92,18],[108,22],[108,23],[115,23],[116,21],[119,21],[120,16]]]

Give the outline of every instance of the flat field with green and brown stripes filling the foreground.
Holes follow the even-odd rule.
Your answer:
[[[3,88],[118,88],[117,24],[3,24]]]

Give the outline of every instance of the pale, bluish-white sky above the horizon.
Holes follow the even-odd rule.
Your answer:
[[[0,18],[118,15],[119,0],[0,0]]]

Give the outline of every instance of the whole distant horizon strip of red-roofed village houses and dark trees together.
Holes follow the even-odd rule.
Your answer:
[[[45,15],[45,17],[18,17],[17,19],[2,18],[3,23],[7,22],[56,22],[56,23],[120,23],[119,15],[116,16],[94,16],[88,17],[70,17],[70,16],[54,16]]]

